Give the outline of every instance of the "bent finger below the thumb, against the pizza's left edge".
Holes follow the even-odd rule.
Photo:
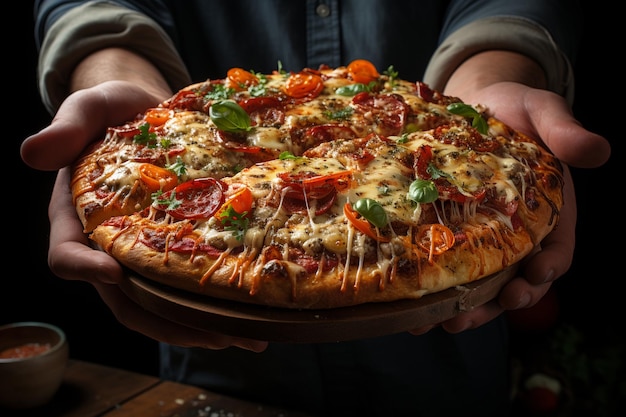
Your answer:
[[[69,168],[60,170],[52,189],[48,207],[48,265],[55,275],[65,279],[119,282],[123,276],[119,263],[106,253],[88,246],[88,239],[72,204],[69,175]]]

